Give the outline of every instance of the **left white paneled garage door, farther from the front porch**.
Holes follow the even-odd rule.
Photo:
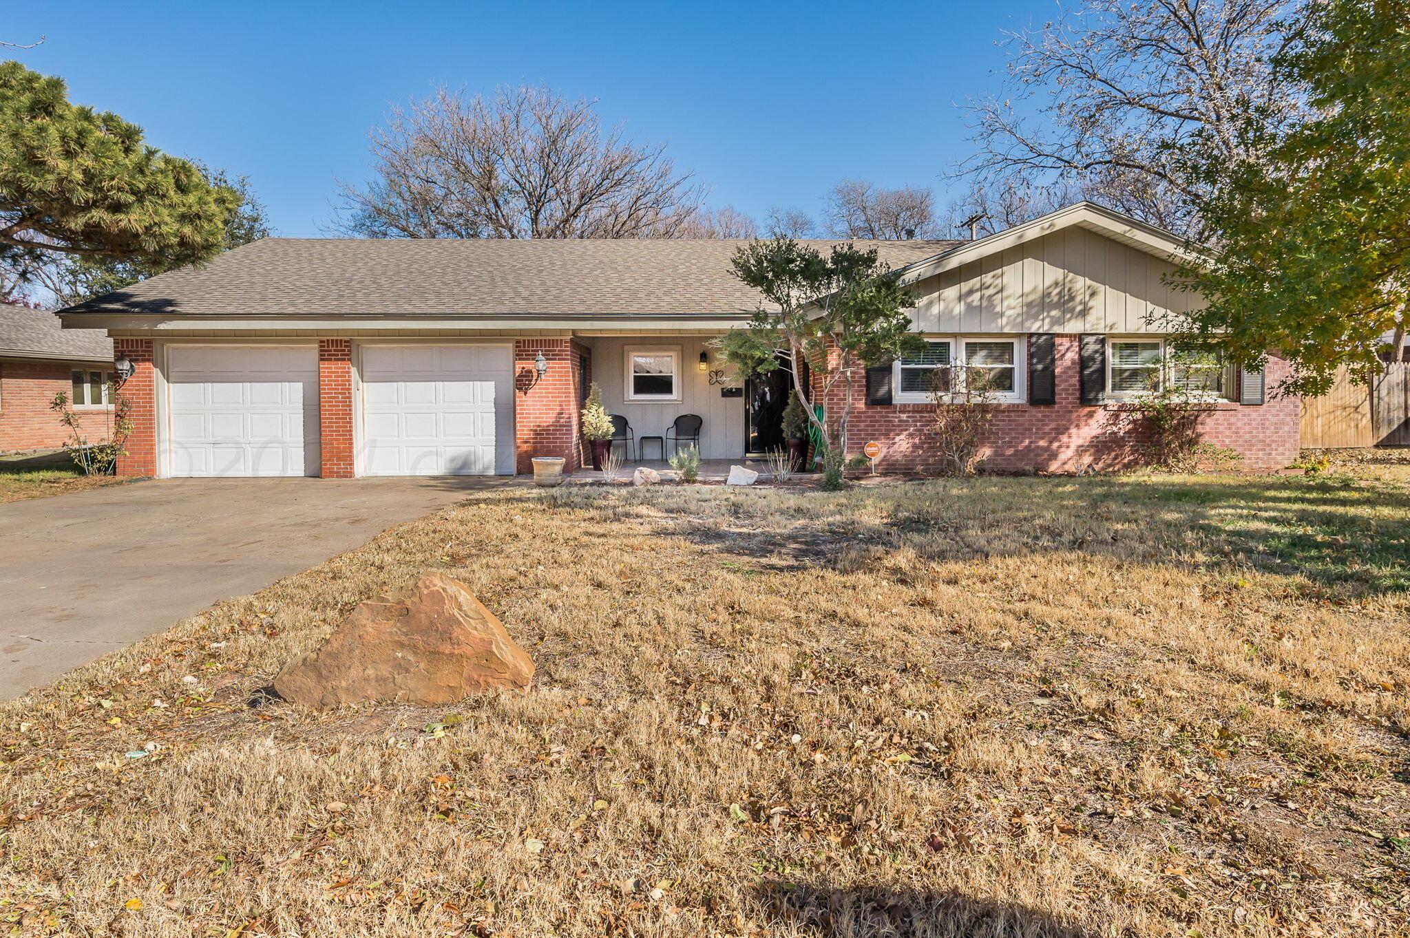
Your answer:
[[[171,475],[319,475],[316,348],[173,345],[166,383]]]

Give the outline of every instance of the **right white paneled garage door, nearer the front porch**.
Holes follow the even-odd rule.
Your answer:
[[[362,475],[513,473],[508,346],[367,345],[361,370]]]

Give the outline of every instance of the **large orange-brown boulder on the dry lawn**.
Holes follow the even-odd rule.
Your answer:
[[[285,700],[443,704],[491,687],[527,687],[533,661],[503,624],[444,573],[360,603],[317,651],[275,677]]]

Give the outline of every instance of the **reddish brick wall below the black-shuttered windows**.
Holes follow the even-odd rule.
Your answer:
[[[1070,472],[1084,466],[1117,469],[1135,463],[1142,439],[1129,427],[1129,417],[1117,404],[1083,406],[1079,400],[1079,346],[1076,335],[1059,335],[1056,345],[1058,403],[1003,404],[986,445],[984,465],[1001,472]],[[1206,442],[1227,446],[1242,456],[1249,469],[1280,469],[1297,456],[1300,444],[1299,401],[1277,397],[1275,390],[1289,373],[1283,359],[1270,358],[1262,406],[1217,404],[1201,424]],[[859,386],[847,421],[850,449],[860,452],[867,441],[881,444],[877,465],[895,472],[939,472],[943,469],[931,435],[933,410],[929,404],[869,406]],[[840,382],[829,397],[828,414],[843,410]]]

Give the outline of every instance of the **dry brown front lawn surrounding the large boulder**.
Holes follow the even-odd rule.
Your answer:
[[[1406,934],[1407,475],[485,492],[0,708],[0,921]],[[429,570],[532,692],[261,703]]]

